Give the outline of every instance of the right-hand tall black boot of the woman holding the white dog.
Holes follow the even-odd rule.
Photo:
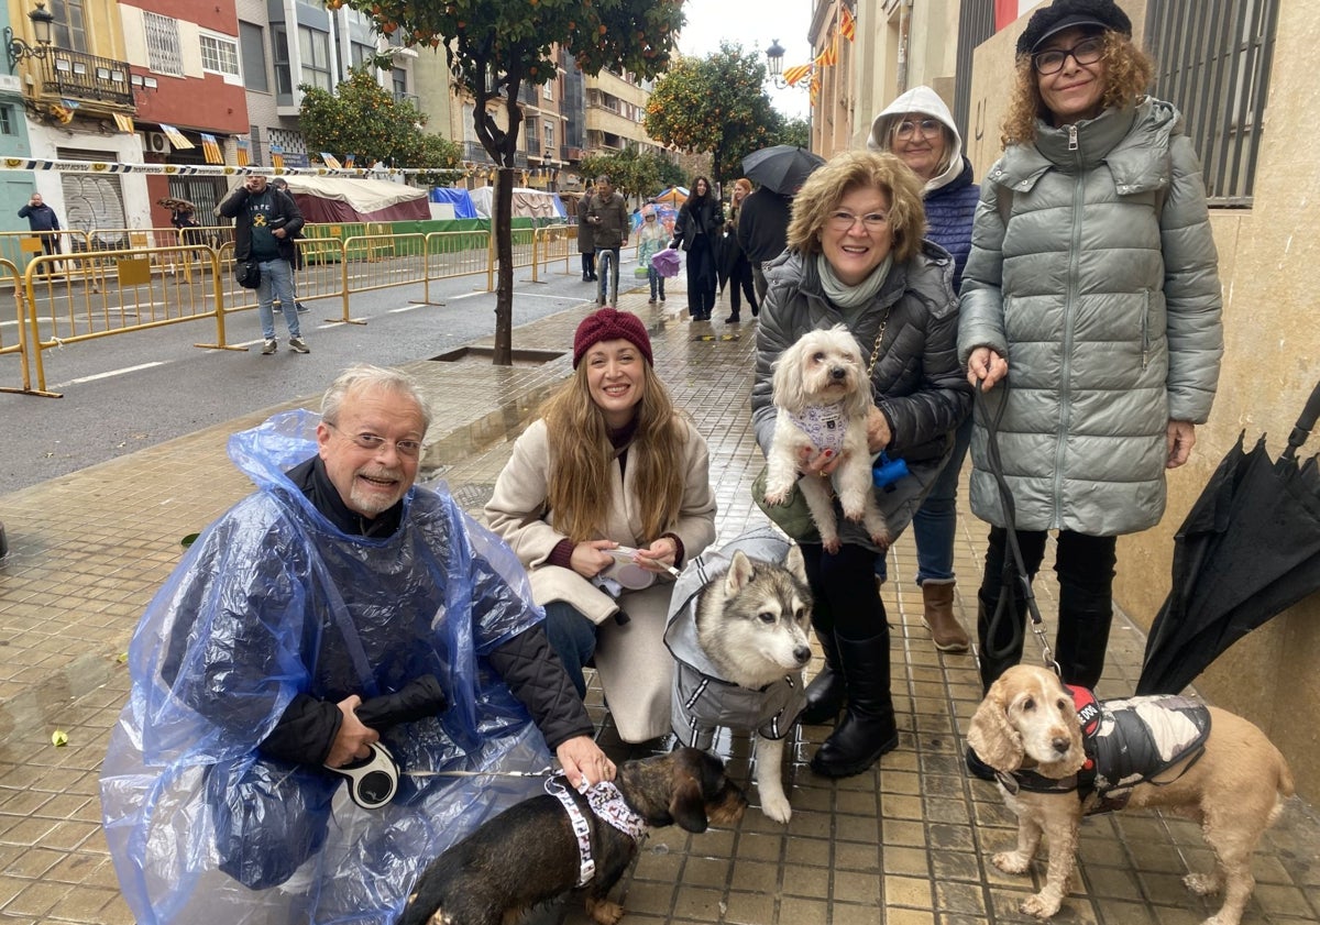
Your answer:
[[[825,777],[851,777],[899,744],[890,697],[890,635],[838,639],[838,664],[847,690],[847,706],[834,732],[812,756],[812,771]]]

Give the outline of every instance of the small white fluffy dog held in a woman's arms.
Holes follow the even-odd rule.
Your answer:
[[[838,552],[838,523],[833,495],[838,491],[843,516],[862,521],[878,546],[890,542],[888,526],[875,505],[871,454],[866,446],[866,417],[874,401],[857,339],[842,325],[808,331],[775,360],[775,437],[767,455],[766,504],[783,504],[797,482],[825,549]],[[814,475],[799,482],[804,447],[842,458],[830,479]]]

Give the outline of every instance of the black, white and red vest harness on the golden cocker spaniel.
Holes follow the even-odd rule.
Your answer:
[[[1045,777],[1035,771],[998,773],[1008,793],[1076,792],[1086,815],[1127,805],[1138,784],[1171,784],[1200,760],[1210,735],[1210,711],[1191,697],[1156,695],[1098,701],[1085,687],[1067,685],[1077,707],[1086,763],[1076,775]],[[1160,775],[1183,767],[1168,780]]]

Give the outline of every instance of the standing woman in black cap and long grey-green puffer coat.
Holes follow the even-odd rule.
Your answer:
[[[1094,686],[1117,537],[1159,523],[1164,471],[1187,462],[1214,399],[1222,300],[1205,190],[1181,116],[1142,95],[1151,73],[1111,0],[1055,0],[1018,42],[958,333],[986,399],[972,441],[972,509],[991,524],[977,627],[986,689],[1022,656],[1020,590],[1001,602],[1006,528],[1032,577],[1059,530],[1055,654],[1065,682]],[[991,422],[1011,523],[986,455]],[[968,763],[979,773],[974,753]]]

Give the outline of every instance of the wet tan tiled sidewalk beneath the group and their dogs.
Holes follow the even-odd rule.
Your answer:
[[[681,321],[681,281],[673,282],[680,285],[671,286],[663,309],[647,306],[638,292],[624,296],[620,307],[647,319],[661,376],[706,434],[725,540],[760,519],[746,488],[760,466],[747,416],[755,323]],[[583,311],[519,329],[515,346],[564,350]],[[741,336],[698,339],[711,333]],[[428,457],[475,512],[512,437],[569,373],[569,360],[508,369],[480,360],[408,368],[436,396]],[[285,406],[305,404],[313,404],[310,397]],[[127,693],[116,654],[178,561],[178,538],[249,490],[224,457],[224,441],[268,413],[0,497],[13,545],[0,565],[0,647],[9,656],[0,668],[0,925],[132,921],[98,827],[96,773]],[[957,566],[969,627],[983,540],[983,526],[964,512]],[[792,822],[779,826],[752,808],[735,830],[652,833],[620,885],[627,922],[1034,921],[1016,904],[1039,885],[1041,868],[1028,881],[990,864],[990,854],[1012,842],[1012,821],[994,788],[961,768],[961,731],[979,694],[973,658],[940,654],[931,645],[911,582],[908,536],[891,553],[890,573],[883,598],[894,631],[899,750],[876,769],[833,782],[807,767],[829,730],[799,731],[785,768]],[[1053,589],[1047,578],[1040,598],[1048,615]],[[1130,623],[1117,623],[1102,684],[1110,694],[1131,690],[1144,645]],[[1035,652],[1034,641],[1027,647]],[[602,742],[622,755],[598,690],[591,707]],[[67,734],[63,748],[51,746],[57,728]],[[748,780],[747,739],[725,736],[719,744],[733,773]],[[1082,829],[1080,854],[1074,892],[1056,921],[1188,925],[1216,908],[1180,883],[1188,862],[1208,862],[1189,823],[1147,813],[1093,818]],[[1309,806],[1294,800],[1257,855],[1259,884],[1243,921],[1316,921],[1317,858],[1320,825]],[[587,920],[570,912],[569,921]]]

